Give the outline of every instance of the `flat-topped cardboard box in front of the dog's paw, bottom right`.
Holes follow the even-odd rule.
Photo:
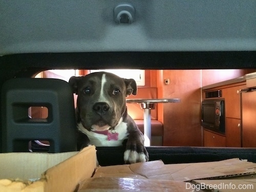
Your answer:
[[[200,188],[196,188],[198,184],[194,180],[200,183],[201,180],[198,179],[207,179],[207,183],[210,184],[217,181],[213,179],[256,174],[255,168],[255,163],[239,159],[166,165],[162,161],[149,161],[104,166],[96,170],[93,178],[81,183],[78,191],[200,191]]]

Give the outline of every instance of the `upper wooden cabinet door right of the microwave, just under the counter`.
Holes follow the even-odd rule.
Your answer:
[[[245,85],[225,88],[222,90],[222,97],[225,98],[225,116],[229,118],[241,119],[241,94],[240,90]]]

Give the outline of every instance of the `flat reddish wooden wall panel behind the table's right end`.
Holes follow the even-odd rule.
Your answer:
[[[163,145],[201,146],[201,71],[163,70],[160,80],[163,98],[180,98],[180,103],[163,104]]]

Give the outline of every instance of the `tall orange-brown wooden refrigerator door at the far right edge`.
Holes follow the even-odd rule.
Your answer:
[[[256,147],[256,91],[242,93],[242,147]]]

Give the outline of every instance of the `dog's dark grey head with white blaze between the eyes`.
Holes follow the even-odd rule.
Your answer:
[[[87,130],[105,131],[115,127],[126,109],[126,96],[137,94],[134,79],[106,72],[71,77],[69,84],[77,97],[77,119]]]

